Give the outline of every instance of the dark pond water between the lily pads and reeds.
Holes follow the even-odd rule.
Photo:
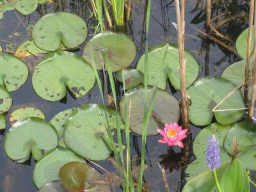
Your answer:
[[[248,27],[248,14],[246,14],[248,13],[247,3],[248,1],[239,1],[239,3],[237,3],[237,1],[231,1],[223,4],[223,1],[216,1],[216,3],[212,5],[212,18],[217,15],[223,15],[218,17],[218,19],[212,20],[212,25],[215,26],[216,24],[220,24],[226,20],[218,30],[224,36],[236,41],[239,34]],[[146,0],[132,1],[131,20],[127,22],[125,33],[134,40],[138,49],[138,54],[130,67],[135,67],[138,59],[145,52],[145,4],[147,4]],[[91,13],[88,11],[90,8],[90,1],[73,0],[54,1],[54,3],[40,4],[36,12],[27,16],[21,15],[16,11],[6,12],[4,13],[3,19],[0,20],[0,45],[5,49],[6,45],[12,44],[13,49],[11,49],[10,52],[15,51],[22,42],[30,39],[28,30],[26,29],[29,25],[35,24],[35,22],[46,13],[59,11],[76,13],[86,20],[89,29],[89,36],[86,39],[86,42],[88,42],[94,33],[93,27],[97,24],[96,20],[93,19],[93,17],[90,17]],[[241,60],[237,54],[225,49],[215,41],[205,38],[204,34],[195,29],[198,28],[205,31],[204,14],[204,1],[186,1],[185,47],[194,54],[196,60],[198,60],[198,63],[202,67],[202,71],[198,78],[204,76],[220,76],[225,67],[234,61]],[[152,0],[150,16],[148,45],[150,47],[154,47],[155,45],[162,44],[164,42],[177,44],[176,31],[172,25],[172,22],[176,22],[174,1]],[[212,34],[221,42],[227,44],[228,47],[235,49],[234,42],[220,38],[214,35],[214,33],[211,33],[211,35]],[[81,50],[83,50],[86,42],[81,45],[81,49],[74,50],[73,52],[81,56]],[[4,50],[4,52],[8,51]],[[38,61],[40,61],[40,57],[33,56],[27,60],[26,63],[29,66],[32,66]],[[99,73],[102,74],[102,72]],[[74,99],[69,93],[67,93],[67,97],[65,97],[65,99],[61,99],[60,102],[46,101],[38,97],[38,95],[33,91],[31,86],[31,74],[32,73],[30,72],[28,80],[21,88],[19,88],[19,90],[11,92],[13,105],[10,111],[6,114],[8,122],[6,129],[0,132],[0,180],[2,182],[0,191],[4,192],[37,191],[33,183],[33,167],[35,165],[33,157],[25,163],[18,164],[9,159],[4,152],[4,136],[11,127],[9,119],[10,114],[13,111],[24,107],[38,108],[45,114],[45,119],[50,121],[54,115],[64,111],[65,109],[76,108],[81,106],[81,104],[102,103],[102,101],[99,100],[100,93],[97,84],[95,84],[94,88],[89,93],[80,99]],[[116,83],[118,84],[117,94],[122,95],[122,91],[120,90],[122,84],[118,83],[118,81],[116,81]],[[109,85],[109,83],[107,84]],[[168,92],[172,92],[173,95],[179,99],[179,92],[176,92],[169,84],[166,90],[168,90]],[[108,88],[108,93],[110,92],[111,90]],[[145,168],[144,181],[149,184],[148,188],[150,191],[165,191],[163,176],[157,164],[161,162],[163,157],[164,160],[162,162],[162,167],[163,164],[166,167],[166,176],[168,178],[170,190],[181,191],[182,186],[185,184],[184,169],[186,168],[186,164],[195,159],[191,152],[191,141],[202,128],[203,127],[195,127],[191,125],[191,131],[189,132],[187,139],[188,141],[185,141],[187,146],[184,149],[174,147],[174,151],[169,149],[168,145],[157,142],[159,138],[161,138],[160,135],[147,138],[145,161],[147,168]],[[167,155],[168,149],[169,156]],[[134,166],[140,166],[140,150],[141,136],[131,133],[131,154]],[[184,155],[186,155],[186,158]],[[109,159],[101,162],[97,161],[95,163],[108,170],[108,172],[116,172],[115,166],[113,166]],[[105,173],[97,166],[93,164],[92,166],[100,172]],[[121,191],[120,188],[117,188],[116,190]]]

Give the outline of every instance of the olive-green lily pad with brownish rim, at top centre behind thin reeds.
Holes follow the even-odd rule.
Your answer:
[[[104,42],[106,47],[104,47]],[[106,65],[105,49],[108,52],[113,72],[130,65],[137,53],[136,46],[129,36],[124,33],[113,33],[111,31],[93,36],[88,44],[85,45],[83,58],[92,65],[91,47],[97,70],[102,69]]]

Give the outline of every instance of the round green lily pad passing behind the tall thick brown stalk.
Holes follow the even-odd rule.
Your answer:
[[[199,74],[199,65],[195,56],[185,49],[186,58],[186,87],[190,86]],[[145,55],[141,56],[137,69],[144,73]],[[148,51],[148,84],[163,90],[166,88],[167,78],[172,86],[180,90],[179,48],[176,44],[156,45]]]

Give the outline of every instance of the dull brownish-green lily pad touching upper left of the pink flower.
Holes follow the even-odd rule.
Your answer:
[[[148,104],[152,99],[154,87],[148,86]],[[139,85],[128,90],[120,102],[120,112],[123,120],[125,120],[125,104],[129,111],[131,102],[131,119],[129,122],[130,129],[137,134],[142,134],[144,108],[145,108],[145,92],[144,86]],[[180,118],[180,109],[178,100],[165,90],[157,88],[156,99],[148,121],[147,135],[152,136],[158,134],[157,129],[162,129],[161,124],[174,124]],[[160,124],[161,123],[161,124]]]

